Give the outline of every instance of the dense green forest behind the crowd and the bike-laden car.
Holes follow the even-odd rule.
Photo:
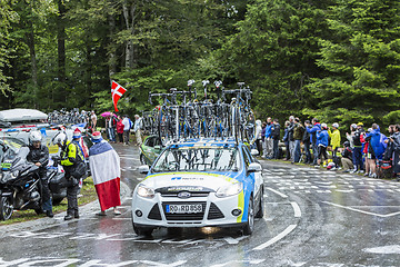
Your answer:
[[[398,0],[0,0],[1,109],[149,110],[244,81],[261,119],[400,122]]]

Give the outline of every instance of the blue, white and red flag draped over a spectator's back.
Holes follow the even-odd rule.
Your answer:
[[[120,158],[109,142],[102,140],[90,147],[89,166],[101,210],[120,206]]]

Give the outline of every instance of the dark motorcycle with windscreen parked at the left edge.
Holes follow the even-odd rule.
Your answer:
[[[4,151],[6,149],[6,151]],[[39,167],[27,160],[28,147],[16,152],[3,147],[0,172],[0,220],[11,218],[13,210],[41,209]]]

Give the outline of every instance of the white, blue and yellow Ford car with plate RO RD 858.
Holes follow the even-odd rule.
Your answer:
[[[262,217],[262,167],[233,140],[168,146],[132,196],[138,235],[159,227],[239,227],[250,235]]]

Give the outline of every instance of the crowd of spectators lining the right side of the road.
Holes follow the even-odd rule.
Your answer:
[[[400,180],[400,125],[389,126],[389,137],[380,127],[370,128],[362,122],[352,123],[342,135],[339,123],[321,123],[317,118],[300,121],[290,116],[281,126],[278,119],[256,121],[254,145],[266,159],[280,159],[291,164],[307,164],[378,178],[384,174]],[[342,142],[342,137],[344,141]]]

